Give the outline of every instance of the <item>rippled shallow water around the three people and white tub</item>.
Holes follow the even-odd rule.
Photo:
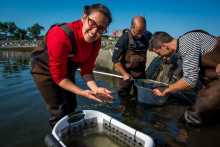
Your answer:
[[[193,128],[178,122],[190,106],[187,100],[170,98],[162,107],[151,107],[138,103],[136,96],[119,99],[118,78],[94,75],[99,86],[113,91],[114,103],[101,104],[77,96],[77,110],[106,113],[156,138],[158,146],[220,146],[220,125]],[[50,114],[30,74],[29,52],[0,51],[0,83],[0,146],[46,146],[44,138],[51,133]],[[78,72],[76,83],[88,88]]]

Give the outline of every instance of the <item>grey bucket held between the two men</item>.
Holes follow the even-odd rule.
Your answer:
[[[166,83],[148,79],[134,79],[134,85],[137,86],[138,101],[147,105],[162,106],[170,96],[169,93],[162,97],[150,94],[155,87],[168,86]]]

